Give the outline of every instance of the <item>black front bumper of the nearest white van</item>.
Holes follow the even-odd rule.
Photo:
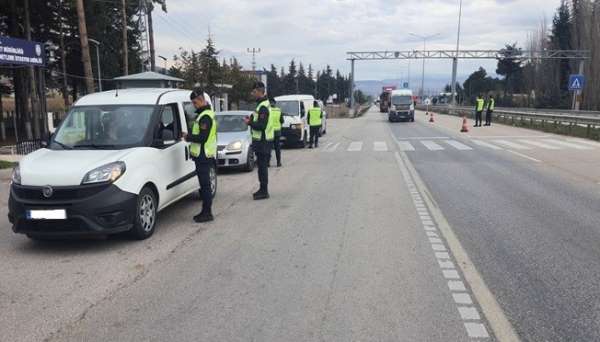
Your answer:
[[[137,195],[116,185],[54,187],[46,198],[44,187],[12,184],[8,219],[15,233],[30,236],[108,235],[133,227]],[[30,210],[66,211],[66,219],[29,219]]]

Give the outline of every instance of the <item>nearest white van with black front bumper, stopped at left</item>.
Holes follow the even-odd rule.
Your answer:
[[[125,231],[150,237],[157,212],[199,188],[182,140],[196,116],[190,93],[124,89],[78,100],[48,145],[13,171],[13,231],[32,239]],[[214,196],[216,165],[210,175]]]

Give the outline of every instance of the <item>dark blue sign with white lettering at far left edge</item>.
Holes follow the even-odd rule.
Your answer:
[[[0,64],[46,65],[44,45],[0,36]]]

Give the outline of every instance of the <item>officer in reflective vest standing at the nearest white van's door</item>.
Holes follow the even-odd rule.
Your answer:
[[[194,216],[194,221],[201,223],[214,220],[212,215],[212,180],[216,184],[217,122],[204,90],[196,88],[192,91],[190,99],[198,115],[192,124],[192,131],[186,136],[186,140],[190,142],[190,155],[196,164],[196,174],[200,183],[200,196],[202,197],[202,211]]]

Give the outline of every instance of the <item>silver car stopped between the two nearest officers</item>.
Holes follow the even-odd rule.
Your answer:
[[[248,111],[219,112],[217,119],[217,165],[219,168],[241,168],[252,171],[255,156],[252,151],[252,133],[244,118]]]

